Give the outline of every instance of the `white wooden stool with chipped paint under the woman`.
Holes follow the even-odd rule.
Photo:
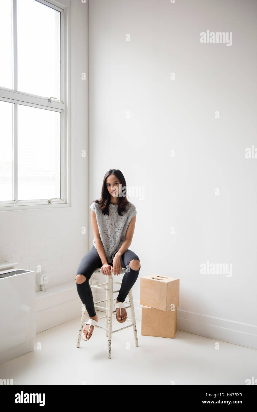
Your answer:
[[[126,272],[126,268],[122,268],[120,274],[123,274],[125,272]],[[132,296],[132,289],[130,289],[130,291],[128,293],[129,302],[126,302],[126,301],[124,302],[126,304],[129,304],[129,306],[125,306],[125,307],[126,307],[126,309],[130,308],[131,318],[127,317],[126,321],[129,321],[131,323],[130,323],[130,325],[124,326],[123,328],[112,330],[112,315],[116,315],[116,309],[113,311],[113,293],[119,292],[119,290],[113,290],[113,283],[117,283],[118,285],[121,285],[121,282],[113,281],[113,275],[112,274],[111,275],[104,275],[107,278],[107,282],[106,283],[100,283],[100,285],[98,285],[98,286],[94,286],[94,285],[92,285],[92,281],[93,281],[93,277],[94,277],[95,273],[102,273],[101,267],[97,268],[94,271],[94,273],[92,274],[92,276],[90,277],[90,280],[89,280],[90,287],[106,290],[106,299],[99,300],[98,302],[94,302],[94,307],[95,308],[105,310],[105,313],[106,313],[105,316],[101,316],[100,318],[98,318],[98,320],[106,318],[106,325],[105,325],[106,327],[103,328],[102,326],[95,325],[95,328],[104,329],[106,331],[105,336],[108,337],[108,347],[107,347],[107,355],[108,356],[107,356],[107,358],[111,359],[111,335],[112,335],[112,333],[118,332],[119,330],[123,330],[123,329],[126,329],[126,328],[130,328],[130,326],[133,326],[135,344],[136,344],[136,346],[138,346],[137,326],[136,326],[136,318],[135,318],[135,312],[134,312],[134,302],[133,302],[133,296]],[[105,285],[106,285],[106,287],[105,287]],[[102,302],[107,302],[106,307],[97,306],[97,303],[102,303]],[[82,311],[82,316],[81,316],[81,321],[80,321],[80,330],[79,330],[79,333],[78,333],[77,348],[80,347],[81,333],[83,332],[83,329],[85,327],[84,324],[86,323],[86,321],[85,321],[86,313],[87,313],[87,311],[85,309],[85,305],[83,304],[83,311]]]

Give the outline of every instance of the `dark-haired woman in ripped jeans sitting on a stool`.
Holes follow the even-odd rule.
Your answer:
[[[127,318],[123,302],[137,280],[141,264],[138,256],[128,249],[134,234],[137,211],[127,200],[126,190],[121,171],[110,169],[104,176],[101,199],[90,205],[93,247],[81,259],[76,275],[78,295],[90,317],[82,333],[83,340],[90,339],[98,321],[89,284],[91,275],[98,267],[106,276],[112,273],[119,275],[122,267],[127,268],[115,304],[118,322],[125,322]]]

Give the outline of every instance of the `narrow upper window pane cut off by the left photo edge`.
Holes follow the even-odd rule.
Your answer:
[[[12,0],[0,0],[0,86],[12,89]]]

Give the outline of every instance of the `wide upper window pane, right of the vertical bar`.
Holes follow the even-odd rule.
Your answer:
[[[17,0],[18,90],[60,96],[60,12]]]

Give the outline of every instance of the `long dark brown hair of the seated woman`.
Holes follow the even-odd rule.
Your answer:
[[[127,185],[126,185],[126,180],[125,177],[123,176],[123,173],[119,169],[109,169],[105,175],[104,175],[104,181],[102,185],[102,190],[101,190],[101,198],[99,200],[94,200],[94,202],[98,203],[103,215],[107,214],[109,215],[109,204],[111,203],[111,195],[108,192],[107,186],[106,186],[106,179],[110,175],[115,175],[116,178],[120,180],[121,183],[121,191],[118,196],[118,214],[122,216],[122,212],[125,212],[127,210],[128,206],[128,200],[127,200]],[[123,194],[124,192],[124,194]],[[91,202],[92,204],[93,202]],[[91,205],[90,204],[90,205]]]

